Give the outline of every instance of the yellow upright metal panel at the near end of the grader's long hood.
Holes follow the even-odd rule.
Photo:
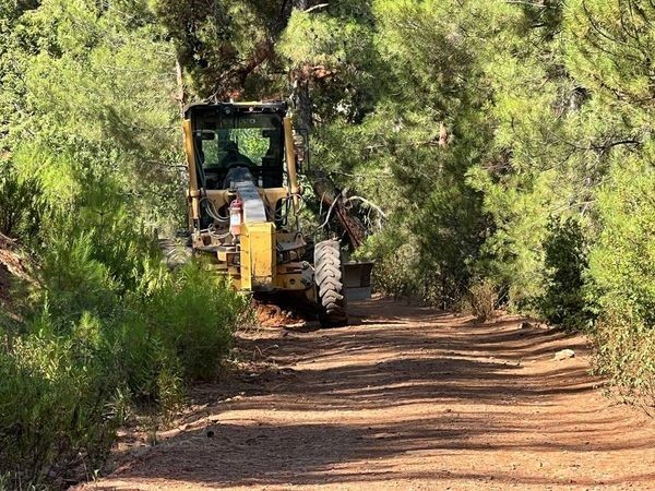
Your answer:
[[[273,289],[275,263],[275,224],[241,225],[241,288]]]

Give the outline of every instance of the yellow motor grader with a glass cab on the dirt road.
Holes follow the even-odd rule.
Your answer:
[[[346,287],[366,295],[370,267],[342,263],[336,240],[312,253],[294,219],[308,147],[286,103],[193,104],[183,132],[193,253],[209,256],[237,289],[296,296],[317,307],[322,325],[347,324]]]

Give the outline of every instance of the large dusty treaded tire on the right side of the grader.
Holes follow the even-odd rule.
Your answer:
[[[325,240],[317,243],[314,247],[314,282],[321,308],[319,321],[323,327],[348,324],[343,277],[338,242]]]

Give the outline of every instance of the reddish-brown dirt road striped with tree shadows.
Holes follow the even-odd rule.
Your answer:
[[[386,300],[355,313],[245,335],[252,373],[200,387],[179,429],[87,489],[655,489],[655,423],[603,396],[583,338]]]

